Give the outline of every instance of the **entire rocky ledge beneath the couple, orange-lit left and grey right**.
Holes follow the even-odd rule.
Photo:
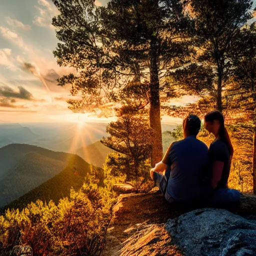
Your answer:
[[[103,256],[256,255],[255,195],[226,210],[169,204],[156,191],[123,193],[112,213]]]

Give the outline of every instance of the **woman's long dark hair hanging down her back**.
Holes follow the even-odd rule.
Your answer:
[[[228,133],[225,129],[225,124],[224,124],[224,116],[223,114],[218,111],[218,110],[213,110],[208,112],[205,116],[204,116],[204,120],[206,122],[210,121],[213,122],[214,120],[218,120],[220,123],[220,127],[218,130],[218,135],[220,137],[220,139],[226,144],[229,154],[233,154],[233,146],[231,144],[231,141],[229,139]]]

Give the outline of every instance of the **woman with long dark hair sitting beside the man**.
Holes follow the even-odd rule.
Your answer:
[[[212,200],[216,204],[239,202],[240,192],[227,186],[233,147],[224,126],[223,114],[217,110],[208,112],[204,116],[204,126],[215,136],[209,147]]]

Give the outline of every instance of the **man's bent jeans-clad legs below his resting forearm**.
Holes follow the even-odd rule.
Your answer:
[[[170,167],[167,167],[164,175],[162,175],[159,172],[155,172],[155,171],[153,172],[153,179],[154,179],[155,185],[160,189],[166,201],[174,202],[174,199],[167,192],[167,184],[168,184],[169,176],[170,176]]]

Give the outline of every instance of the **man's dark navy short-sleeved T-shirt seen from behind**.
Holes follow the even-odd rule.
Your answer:
[[[162,162],[170,166],[167,192],[175,201],[187,201],[202,193],[208,167],[208,147],[195,136],[173,142]]]

